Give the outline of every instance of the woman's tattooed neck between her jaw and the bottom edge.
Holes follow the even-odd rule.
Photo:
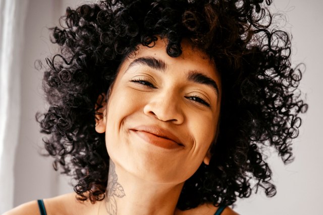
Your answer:
[[[110,159],[105,200],[99,214],[169,214],[173,215],[183,184],[160,184],[139,179]]]

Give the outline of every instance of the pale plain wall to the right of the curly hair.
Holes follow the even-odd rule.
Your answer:
[[[301,89],[309,104],[299,138],[294,144],[295,161],[284,166],[276,154],[270,159],[277,195],[264,193],[237,202],[241,214],[323,214],[323,2],[319,0],[276,0],[278,11],[286,12],[286,29],[293,34],[292,60],[304,62]],[[275,10],[275,6],[273,11]]]

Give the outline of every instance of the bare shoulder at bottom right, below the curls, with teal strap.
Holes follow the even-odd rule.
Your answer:
[[[195,208],[189,209],[189,210],[177,210],[176,215],[214,215],[216,211],[218,210],[218,207],[215,207],[212,204],[202,204]],[[239,215],[234,210],[232,210],[230,207],[226,207],[221,215]]]

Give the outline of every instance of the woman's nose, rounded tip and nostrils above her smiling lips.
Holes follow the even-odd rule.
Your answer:
[[[164,122],[172,122],[180,125],[184,122],[184,114],[181,109],[181,101],[174,92],[165,91],[152,95],[143,112]]]

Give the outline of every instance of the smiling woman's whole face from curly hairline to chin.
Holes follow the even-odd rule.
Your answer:
[[[165,40],[140,46],[120,66],[103,120],[107,151],[144,180],[181,183],[204,161],[216,134],[221,81],[209,58],[182,43],[172,58]],[[100,127],[104,129],[100,130]]]

